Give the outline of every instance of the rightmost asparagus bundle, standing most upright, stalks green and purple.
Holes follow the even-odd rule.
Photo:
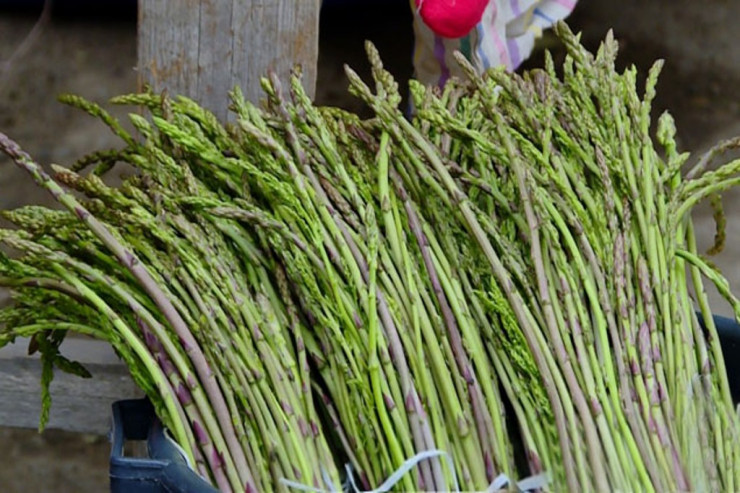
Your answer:
[[[467,232],[446,252],[477,256],[477,286],[505,293],[508,306],[493,312],[516,319],[544,384],[560,446],[555,477],[562,472],[569,491],[733,491],[738,421],[702,276],[736,316],[740,305],[697,253],[689,212],[738,183],[740,161],[706,171],[736,142],[682,177],[688,155],[676,151],[668,114],[657,129],[665,158],[650,138],[660,64],[640,100],[636,71],[615,72],[611,36],[594,58],[564,26],[558,32],[570,54],[562,80],[549,58],[523,78],[477,78],[468,67],[472,89],[448,85],[435,96],[412,85],[414,125],[384,96],[393,82],[376,54],[378,93],[357,78],[354,89],[416,163],[408,183],[420,209]],[[538,457],[548,446],[526,431],[542,421],[527,415],[541,409],[523,398],[531,390],[508,396],[524,404],[515,404],[517,422]]]

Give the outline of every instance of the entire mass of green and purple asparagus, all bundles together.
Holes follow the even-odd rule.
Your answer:
[[[0,257],[0,346],[42,353],[42,424],[53,368],[84,374],[60,352],[71,330],[111,343],[223,491],[336,488],[345,462],[369,489],[428,451],[451,461],[399,489],[547,473],[553,491],[733,490],[702,279],[740,303],[690,212],[740,162],[706,171],[713,152],[682,176],[670,116],[664,155],[650,135],[659,65],[640,99],[611,37],[594,58],[558,33],[562,78],[550,58],[483,77],[461,58],[469,80],[412,82],[411,121],[368,45],[375,91],[348,69],[366,121],[314,106],[296,73],[287,92],[263,81],[263,108],[235,90],[228,126],[184,97],[115,98],[149,110],[139,137],[66,97],[124,147],[53,178],[0,134],[66,207],[6,211],[0,230],[18,253]],[[119,161],[137,173],[105,185]]]

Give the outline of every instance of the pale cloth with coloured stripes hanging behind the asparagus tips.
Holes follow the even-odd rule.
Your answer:
[[[515,70],[532,53],[542,31],[565,19],[577,0],[490,0],[481,22],[460,39],[434,34],[414,11],[415,78],[427,85],[443,86],[451,76],[462,75],[453,58],[460,51],[479,72],[505,65]]]

